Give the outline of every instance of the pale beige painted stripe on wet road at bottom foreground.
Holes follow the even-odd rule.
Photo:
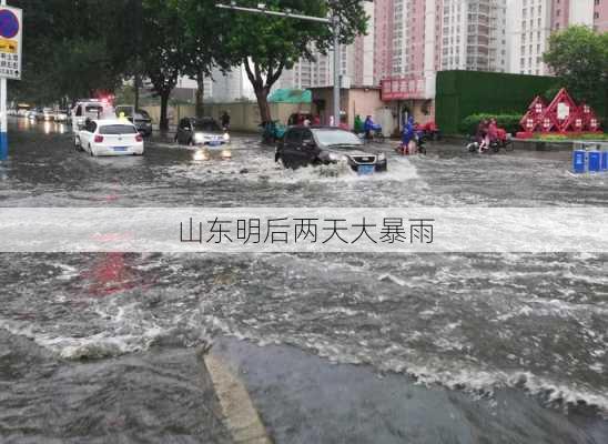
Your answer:
[[[206,354],[204,361],[234,442],[272,444],[243,382],[219,357]]]

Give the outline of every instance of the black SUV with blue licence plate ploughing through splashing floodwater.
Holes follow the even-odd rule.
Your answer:
[[[373,152],[354,133],[334,127],[292,127],[276,148],[287,168],[344,162],[359,174],[386,171],[386,155]]]

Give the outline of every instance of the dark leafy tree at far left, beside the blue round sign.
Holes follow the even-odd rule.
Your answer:
[[[131,48],[126,0],[14,0],[23,9],[22,80],[11,95],[52,103],[65,97],[112,91]]]

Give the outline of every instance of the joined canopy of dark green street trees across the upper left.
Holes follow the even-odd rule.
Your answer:
[[[166,109],[180,75],[199,81],[214,68],[244,65],[262,120],[267,95],[285,69],[333,46],[330,26],[236,13],[201,0],[13,0],[23,9],[22,81],[11,95],[37,103],[114,91],[124,79],[148,78]],[[239,4],[257,7],[256,0]],[[271,10],[337,16],[342,43],[365,33],[362,0],[266,0]],[[161,125],[166,127],[165,112]]]

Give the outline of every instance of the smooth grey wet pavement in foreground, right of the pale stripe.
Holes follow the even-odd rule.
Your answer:
[[[516,390],[475,397],[291,346],[223,339],[212,353],[242,377],[278,443],[601,443],[608,422],[569,421]]]

